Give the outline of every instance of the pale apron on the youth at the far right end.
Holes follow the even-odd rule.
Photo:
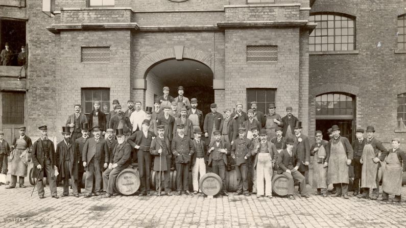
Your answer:
[[[384,178],[383,191],[388,194],[400,195],[402,192],[402,165],[396,152],[390,153],[384,162],[381,162]]]

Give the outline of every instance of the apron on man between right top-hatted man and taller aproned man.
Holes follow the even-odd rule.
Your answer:
[[[319,158],[325,159],[327,156],[326,149],[323,145],[317,150],[313,158],[313,187],[327,188],[327,167],[324,163],[318,163]]]

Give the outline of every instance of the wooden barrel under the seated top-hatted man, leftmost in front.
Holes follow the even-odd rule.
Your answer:
[[[122,195],[132,195],[139,188],[138,169],[126,168],[117,175],[114,190]]]

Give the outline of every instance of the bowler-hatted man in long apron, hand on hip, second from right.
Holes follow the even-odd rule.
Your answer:
[[[360,195],[359,198],[368,198],[369,190],[372,188],[371,199],[376,200],[379,197],[380,180],[378,176],[378,169],[381,166],[379,161],[384,161],[386,155],[388,154],[388,150],[374,136],[375,128],[373,126],[367,126],[366,132],[367,141],[365,142],[360,160],[360,163],[363,164],[361,171],[361,188],[363,188],[363,194]]]

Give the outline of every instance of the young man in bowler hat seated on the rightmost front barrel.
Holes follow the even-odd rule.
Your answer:
[[[300,158],[297,154],[296,148],[294,148],[295,140],[289,136],[286,138],[286,149],[282,150],[278,157],[278,174],[283,174],[288,178],[288,198],[295,199],[293,197],[293,192],[295,187],[293,185],[294,181],[300,183],[300,195],[302,197],[310,197],[306,191],[306,180],[302,174],[300,174]],[[295,166],[294,166],[295,165]]]

